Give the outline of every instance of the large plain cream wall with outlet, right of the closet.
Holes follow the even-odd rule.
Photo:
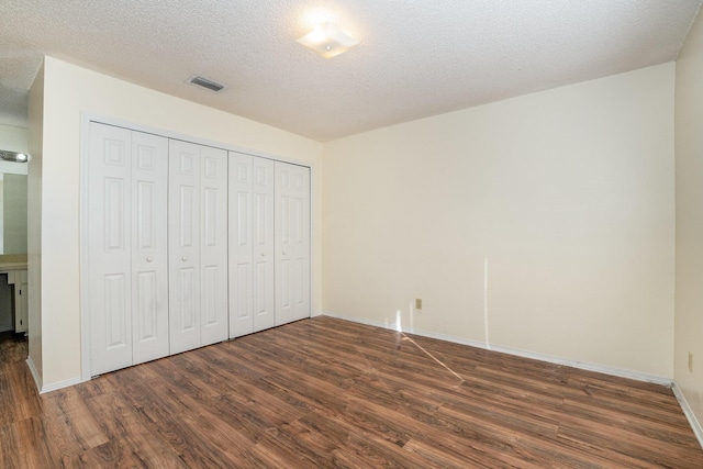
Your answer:
[[[670,63],[325,144],[324,310],[670,379],[673,81]]]

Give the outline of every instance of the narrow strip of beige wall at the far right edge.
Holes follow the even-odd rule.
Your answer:
[[[677,60],[674,381],[703,423],[703,18]],[[689,371],[693,353],[693,372]]]

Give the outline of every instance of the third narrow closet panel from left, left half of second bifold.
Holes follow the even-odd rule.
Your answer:
[[[169,141],[168,246],[171,354],[201,345],[200,146]]]

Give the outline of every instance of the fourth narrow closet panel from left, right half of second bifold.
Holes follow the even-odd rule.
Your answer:
[[[202,146],[200,153],[201,345],[226,340],[227,152]]]

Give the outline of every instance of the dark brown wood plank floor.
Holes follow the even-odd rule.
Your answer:
[[[0,468],[703,468],[660,386],[315,317],[37,395],[0,343]]]

